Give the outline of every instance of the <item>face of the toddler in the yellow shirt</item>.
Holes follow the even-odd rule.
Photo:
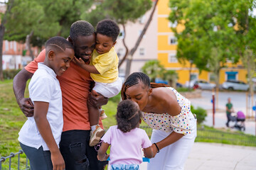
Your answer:
[[[95,50],[97,51],[97,53],[102,55],[106,52],[109,52],[110,49],[114,47],[115,43],[116,42],[113,42],[111,37],[97,33]]]

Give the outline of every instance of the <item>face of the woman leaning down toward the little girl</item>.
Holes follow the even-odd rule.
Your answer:
[[[127,99],[138,103],[140,111],[143,111],[143,109],[146,107],[150,94],[150,88],[142,84],[142,82],[139,82],[139,84],[135,84],[134,86],[130,86],[125,91]]]

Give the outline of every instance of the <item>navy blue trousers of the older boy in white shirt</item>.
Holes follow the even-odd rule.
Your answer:
[[[31,170],[53,170],[53,163],[50,159],[50,151],[43,151],[43,147],[36,149],[28,147],[20,142],[21,149],[28,157]]]

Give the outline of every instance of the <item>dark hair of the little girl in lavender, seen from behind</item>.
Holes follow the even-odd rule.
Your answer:
[[[134,101],[124,100],[117,106],[117,129],[129,132],[136,128],[142,118],[142,112]]]

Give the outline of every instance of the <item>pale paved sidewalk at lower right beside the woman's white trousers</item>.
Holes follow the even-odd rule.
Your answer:
[[[256,147],[195,142],[184,170],[256,170],[255,158]],[[144,162],[140,169],[146,166]]]

